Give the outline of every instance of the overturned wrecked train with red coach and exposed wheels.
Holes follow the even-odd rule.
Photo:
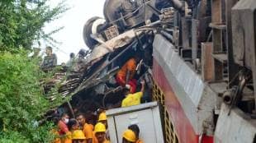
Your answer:
[[[254,0],[106,0],[104,18],[84,26],[91,53],[71,104],[115,107],[113,76],[139,53],[165,142],[256,142],[255,9]]]

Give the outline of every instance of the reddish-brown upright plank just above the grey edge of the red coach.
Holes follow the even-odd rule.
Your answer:
[[[214,77],[212,43],[201,43],[201,79],[212,81]]]

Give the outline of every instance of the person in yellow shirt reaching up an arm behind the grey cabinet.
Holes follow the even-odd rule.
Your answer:
[[[129,107],[133,105],[140,104],[140,99],[143,96],[145,90],[145,81],[141,81],[141,89],[140,92],[136,92],[135,94],[131,94],[130,90],[125,90],[126,98],[122,100],[121,107]]]

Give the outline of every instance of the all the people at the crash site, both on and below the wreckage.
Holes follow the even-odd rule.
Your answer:
[[[70,53],[70,59],[65,63],[66,67],[73,67],[73,71],[83,69],[85,63],[85,50],[80,50],[78,58],[75,58],[74,53]],[[119,107],[125,108],[140,104],[140,100],[145,92],[145,81],[140,80],[141,88],[138,92],[137,82],[135,78],[136,72],[140,66],[140,57],[133,56],[129,58],[116,73],[116,84],[123,88],[125,98],[122,99]],[[55,67],[57,57],[52,53],[52,48],[46,48],[46,56],[41,64],[41,67]],[[75,65],[75,66],[74,66]],[[107,127],[107,116],[105,111],[102,111],[97,116],[97,123],[93,125],[87,121],[83,113],[78,113],[76,118],[69,118],[67,113],[62,113],[55,130],[56,139],[54,143],[109,143],[110,133]],[[122,133],[123,143],[142,143],[139,138],[140,128],[133,124],[127,127]]]

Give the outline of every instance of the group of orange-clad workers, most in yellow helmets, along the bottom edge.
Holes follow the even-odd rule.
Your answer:
[[[102,111],[98,115],[95,126],[87,122],[83,113],[78,113],[76,118],[70,118],[63,113],[57,122],[58,128],[54,131],[56,138],[53,143],[110,143],[107,128],[107,115]],[[123,143],[142,143],[139,138],[140,128],[136,124],[127,127],[123,132]]]

